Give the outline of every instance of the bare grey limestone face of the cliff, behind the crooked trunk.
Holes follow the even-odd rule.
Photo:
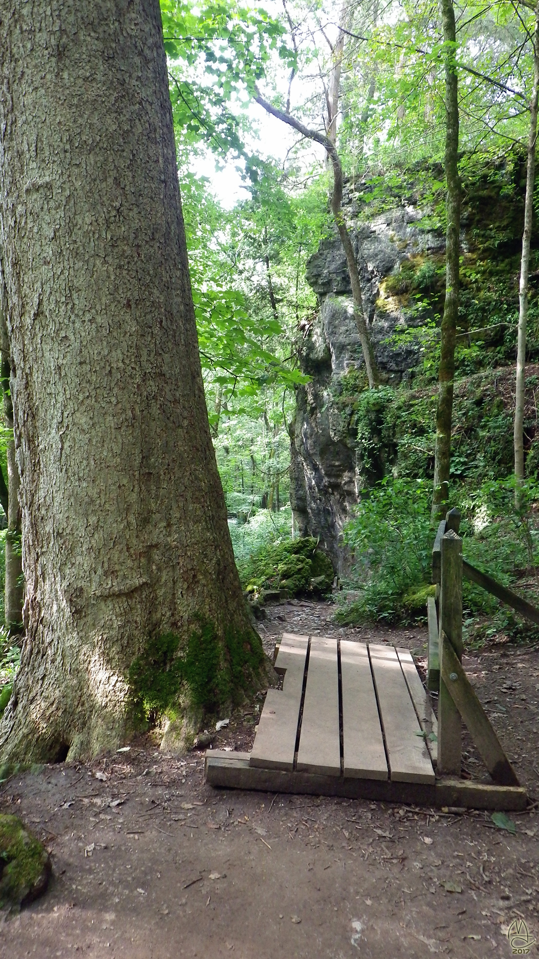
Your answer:
[[[402,265],[415,269],[443,258],[443,232],[433,229],[428,210],[397,206],[369,222],[355,222],[353,195],[345,196],[348,222],[362,280],[364,307],[376,361],[384,382],[397,385],[420,361],[418,339],[395,334],[418,325],[415,299],[394,295]],[[347,209],[347,206],[345,206]],[[462,236],[465,246],[465,237]],[[320,545],[342,572],[340,536],[365,478],[353,417],[343,414],[343,382],[361,374],[363,355],[353,318],[345,254],[338,236],[325,240],[307,263],[306,278],[319,298],[319,310],[303,329],[301,366],[312,380],[297,391],[291,429],[291,500],[302,536],[320,536]],[[387,284],[388,278],[393,285]],[[395,284],[394,279],[397,282]]]

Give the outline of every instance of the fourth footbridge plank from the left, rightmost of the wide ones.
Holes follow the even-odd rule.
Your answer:
[[[392,780],[434,783],[433,765],[393,646],[371,643],[369,654]]]

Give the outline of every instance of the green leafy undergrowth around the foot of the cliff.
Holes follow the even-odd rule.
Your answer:
[[[476,374],[456,384],[456,423],[450,501],[460,509],[463,555],[528,601],[539,604],[539,478],[535,439],[535,367],[528,375],[528,474],[520,507],[511,473],[510,370]],[[347,573],[325,595],[342,623],[409,624],[425,620],[431,585],[433,398],[419,387],[378,395],[350,380],[343,408],[355,415],[365,471],[360,503],[343,535]],[[383,475],[382,479],[377,479]],[[236,565],[245,590],[308,595],[307,580],[292,581],[283,561],[292,545],[291,509],[260,508],[259,499],[227,495]],[[295,571],[296,573],[299,571]],[[250,582],[250,580],[252,582]],[[469,648],[491,642],[539,642],[539,629],[480,587],[464,582],[464,639]]]

